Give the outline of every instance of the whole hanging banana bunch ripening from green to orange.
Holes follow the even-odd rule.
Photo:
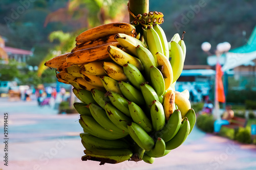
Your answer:
[[[151,23],[162,16],[142,17]],[[80,100],[74,107],[83,128],[82,160],[153,163],[179,147],[195,125],[189,93],[174,88],[185,60],[183,38],[175,34],[167,42],[157,24],[143,30],[142,42],[129,23],[92,28],[76,37],[70,53],[45,63]]]

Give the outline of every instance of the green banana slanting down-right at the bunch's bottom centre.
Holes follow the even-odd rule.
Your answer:
[[[128,131],[133,140],[145,151],[150,151],[155,145],[154,139],[136,123],[128,124]]]

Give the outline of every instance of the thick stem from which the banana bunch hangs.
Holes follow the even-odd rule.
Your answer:
[[[129,0],[129,9],[131,12],[137,16],[138,14],[148,13],[150,2],[149,0]],[[134,17],[130,14],[130,22],[134,20]],[[139,24],[136,26],[136,32],[140,35],[143,35],[142,26]]]

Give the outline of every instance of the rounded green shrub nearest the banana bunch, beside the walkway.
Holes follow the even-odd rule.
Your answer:
[[[202,131],[212,133],[214,132],[214,122],[214,116],[208,114],[201,114],[197,116],[196,125]]]

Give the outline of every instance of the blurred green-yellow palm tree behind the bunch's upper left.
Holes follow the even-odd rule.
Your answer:
[[[71,0],[65,8],[50,13],[46,17],[45,27],[49,22],[68,23],[69,20],[71,22],[76,20],[81,23],[81,29],[74,33],[56,31],[50,34],[50,41],[57,39],[59,45],[53,47],[44,60],[41,61],[38,66],[38,76],[41,76],[42,72],[47,69],[44,65],[45,61],[70,52],[75,45],[75,37],[85,29],[115,21],[129,22],[129,14],[126,12],[127,2],[127,0]]]

